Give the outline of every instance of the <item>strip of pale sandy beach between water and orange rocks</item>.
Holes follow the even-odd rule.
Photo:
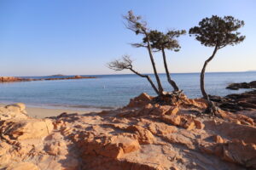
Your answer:
[[[0,104],[1,107],[5,106],[6,104]],[[49,116],[59,116],[63,112],[70,113],[78,113],[78,114],[85,114],[90,113],[92,111],[79,111],[79,110],[69,110],[69,109],[48,109],[48,108],[40,108],[40,107],[26,107],[27,115],[35,117],[35,118],[44,118]],[[96,111],[93,111],[96,112]]]

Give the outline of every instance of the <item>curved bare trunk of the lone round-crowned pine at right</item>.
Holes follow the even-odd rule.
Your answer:
[[[205,61],[205,64],[204,64],[204,66],[203,66],[203,68],[201,70],[201,77],[200,77],[201,94],[203,95],[203,98],[207,99],[208,101],[210,101],[210,99],[209,99],[209,96],[208,96],[208,94],[207,94],[207,92],[205,90],[205,71],[206,71],[206,68],[207,68],[207,64],[213,59],[213,57],[216,54],[217,50],[218,50],[218,45],[215,46],[214,51],[212,53],[212,56],[209,57],[209,59],[207,59]]]

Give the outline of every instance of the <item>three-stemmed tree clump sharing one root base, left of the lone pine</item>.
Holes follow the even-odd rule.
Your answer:
[[[148,29],[147,23],[142,20],[140,16],[136,16],[132,11],[129,11],[127,15],[124,16],[126,23],[126,28],[131,31],[134,31],[137,35],[143,36],[143,41],[140,43],[132,43],[131,45],[136,48],[147,48],[149,59],[154,70],[154,77],[157,83],[157,86],[154,85],[151,78],[148,75],[144,75],[134,70],[132,65],[132,60],[130,56],[125,55],[122,59],[116,59],[108,63],[108,68],[113,69],[114,71],[130,70],[133,73],[137,74],[139,77],[147,78],[148,82],[154,88],[154,92],[157,94],[157,97],[154,99],[155,102],[158,102],[161,105],[174,104],[177,101],[181,100],[184,94],[182,91],[179,91],[176,82],[174,82],[170,76],[170,72],[167,67],[166,62],[166,49],[178,51],[180,48],[179,43],[177,42],[177,37],[185,34],[185,31],[167,31],[166,33],[160,31],[152,31]],[[174,91],[164,92],[160,77],[157,73],[156,66],[154,63],[154,52],[161,51],[163,55],[164,65],[166,69],[167,81],[172,85]]]

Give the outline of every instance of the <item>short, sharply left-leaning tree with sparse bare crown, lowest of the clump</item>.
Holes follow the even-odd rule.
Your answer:
[[[108,68],[112,69],[113,71],[123,71],[123,70],[130,70],[131,72],[137,74],[139,77],[147,78],[148,82],[150,83],[151,87],[154,89],[156,94],[159,94],[158,89],[155,87],[154,82],[152,82],[151,78],[148,75],[143,75],[138,71],[135,71],[132,66],[132,60],[129,55],[124,55],[122,59],[115,59],[112,62],[108,63]]]

